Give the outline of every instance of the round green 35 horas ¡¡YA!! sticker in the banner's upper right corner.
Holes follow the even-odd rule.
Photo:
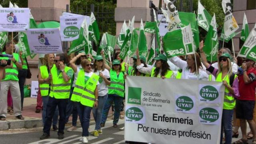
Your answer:
[[[204,86],[200,90],[200,96],[208,101],[213,101],[218,98],[219,93],[213,86]]]

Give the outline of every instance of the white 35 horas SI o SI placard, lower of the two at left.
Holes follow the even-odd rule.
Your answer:
[[[58,28],[33,28],[26,31],[32,54],[62,54]]]

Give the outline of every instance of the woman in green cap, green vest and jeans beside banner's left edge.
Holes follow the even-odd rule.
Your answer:
[[[112,102],[115,103],[113,127],[117,127],[120,116],[120,108],[124,99],[124,79],[126,78],[126,75],[126,73],[122,72],[120,61],[113,60],[112,68],[110,69],[111,84],[108,87],[108,98],[103,108],[102,120],[100,124],[102,127],[104,127],[105,125],[108,111],[110,109],[110,106],[112,105]]]

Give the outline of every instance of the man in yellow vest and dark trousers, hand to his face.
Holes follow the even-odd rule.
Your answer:
[[[52,125],[52,117],[58,105],[59,109],[59,128],[58,139],[64,138],[65,118],[66,118],[66,105],[70,95],[71,79],[73,77],[72,68],[66,66],[65,55],[59,54],[54,58],[55,67],[52,67],[52,85],[50,87],[50,97],[46,108],[46,118],[44,122],[44,134],[40,137],[41,140],[50,137],[50,128]]]

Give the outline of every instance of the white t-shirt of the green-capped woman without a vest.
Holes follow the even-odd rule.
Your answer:
[[[92,70],[94,71],[94,70]],[[109,71],[105,68],[103,71],[102,70],[97,70],[97,72],[94,72],[94,74],[99,75],[99,72],[101,72],[106,78],[110,78]],[[100,77],[99,79],[100,85],[98,85],[98,95],[99,96],[105,96],[108,94],[108,86],[106,85],[105,81]]]

